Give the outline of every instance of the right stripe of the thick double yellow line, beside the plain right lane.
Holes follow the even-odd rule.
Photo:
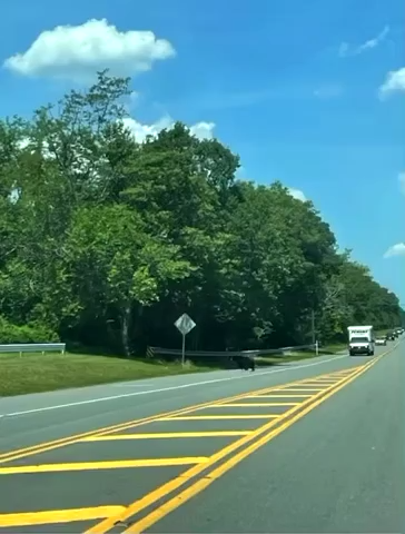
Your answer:
[[[228,461],[226,461],[224,464],[215,468],[209,476],[205,476],[204,478],[200,478],[196,483],[194,483],[191,486],[189,486],[187,490],[184,490],[180,492],[178,495],[169,500],[167,503],[162,504],[158,508],[156,508],[154,512],[141,518],[140,521],[132,523],[129,528],[124,531],[125,533],[139,533],[139,532],[145,532],[147,528],[149,528],[151,525],[156,524],[158,521],[160,521],[162,517],[165,517],[167,514],[172,512],[174,510],[178,508],[180,505],[189,501],[191,497],[195,497],[197,494],[202,492],[206,487],[208,487],[210,484],[213,484],[214,481],[218,479],[220,476],[223,476],[225,473],[227,473],[230,468],[235,467],[238,463],[240,463],[243,459],[245,459],[247,456],[250,456],[258,448],[263,447],[267,443],[269,443],[271,439],[274,439],[276,436],[281,434],[284,431],[289,428],[294,423],[303,418],[305,415],[314,411],[317,406],[323,404],[326,399],[335,395],[337,392],[343,389],[347,384],[352,383],[355,380],[359,375],[365,373],[367,369],[369,369],[375,363],[377,362],[374,360],[371,363],[368,367],[364,367],[362,370],[358,373],[354,374],[354,376],[349,376],[347,379],[343,380],[343,384],[334,387],[330,392],[328,392],[326,395],[324,395],[322,398],[315,400],[309,406],[307,406],[304,411],[299,412],[296,414],[292,419],[285,422],[277,428],[270,431],[268,434],[265,434],[263,437],[260,437],[258,441],[254,442],[251,445],[247,446],[239,453],[237,453],[235,456],[230,457]],[[108,521],[108,520],[107,520]],[[102,524],[102,523],[100,523]],[[88,531],[88,533],[91,532]],[[106,531],[98,531],[98,532],[106,532]],[[85,533],[85,534],[88,534]]]

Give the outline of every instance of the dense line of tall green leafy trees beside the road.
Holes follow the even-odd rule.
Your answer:
[[[32,120],[0,122],[0,340],[125,354],[253,348],[401,324],[397,297],[339,253],[310,201],[236,179],[239,158],[182,123],[138,144],[129,80],[99,73]]]

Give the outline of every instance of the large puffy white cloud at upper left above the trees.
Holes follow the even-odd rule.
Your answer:
[[[28,50],[8,58],[4,67],[23,76],[89,81],[106,68],[116,76],[145,72],[175,53],[169,41],[151,31],[119,31],[106,19],[91,19],[42,31]]]

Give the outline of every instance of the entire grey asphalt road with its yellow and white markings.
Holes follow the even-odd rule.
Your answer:
[[[404,345],[2,399],[0,532],[405,533]]]

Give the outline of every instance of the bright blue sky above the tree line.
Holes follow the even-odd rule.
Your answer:
[[[52,31],[67,24],[81,29]],[[142,48],[130,31],[165,41]],[[405,306],[402,0],[3,0],[0,33],[1,116],[97,68],[131,76],[136,134],[171,119],[214,129],[243,177],[303,191]]]

